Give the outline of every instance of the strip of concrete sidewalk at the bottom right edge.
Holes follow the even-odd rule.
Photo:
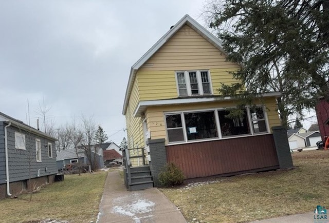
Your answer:
[[[309,223],[314,222],[314,212],[307,212],[304,214],[295,214],[295,215],[289,215],[289,216],[283,216],[283,217],[276,217],[276,218],[270,218],[265,220],[259,220],[259,221],[252,221],[250,223]],[[322,221],[321,221],[322,222]],[[329,222],[329,221],[323,221],[323,222]]]

